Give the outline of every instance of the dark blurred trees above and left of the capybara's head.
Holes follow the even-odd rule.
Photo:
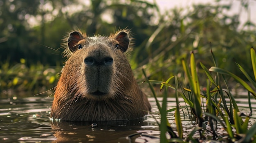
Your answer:
[[[25,58],[27,64],[62,63],[61,39],[74,29],[90,36],[109,35],[115,29],[132,29],[138,41],[145,31],[155,5],[143,1],[91,0],[0,0],[0,60],[11,64]],[[120,14],[121,13],[121,14]],[[105,20],[104,20],[105,18]],[[107,20],[107,21],[106,21]],[[139,42],[137,45],[140,45]],[[49,48],[58,49],[58,51]]]

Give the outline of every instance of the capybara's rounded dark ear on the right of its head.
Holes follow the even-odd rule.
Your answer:
[[[128,34],[124,31],[121,31],[117,34],[117,37],[115,37],[115,40],[117,40],[117,42],[119,43],[118,48],[121,49],[121,51],[126,52],[130,42]]]

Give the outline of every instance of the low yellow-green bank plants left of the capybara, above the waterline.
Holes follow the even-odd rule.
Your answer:
[[[4,62],[0,68],[0,97],[27,97],[27,94],[45,92],[56,85],[60,70],[60,66],[50,67],[40,63],[27,66],[25,59],[20,59],[20,63],[13,66],[8,61]]]

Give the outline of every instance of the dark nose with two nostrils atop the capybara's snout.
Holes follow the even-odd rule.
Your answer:
[[[86,57],[84,62],[88,66],[111,66],[113,64],[112,57],[105,57],[101,60],[95,59],[94,57]]]

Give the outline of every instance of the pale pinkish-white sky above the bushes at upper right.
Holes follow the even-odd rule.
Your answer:
[[[148,2],[154,2],[154,0],[147,0]],[[192,4],[217,4],[216,0],[155,0],[157,2],[157,5],[160,8],[161,12],[164,12],[168,9],[173,9],[175,7],[177,8],[187,8],[191,7]],[[241,1],[242,0],[221,0],[222,3],[225,4],[232,4],[231,10],[227,11],[226,14],[233,15],[235,13],[240,13],[240,28],[242,25],[247,22],[248,20],[248,11],[250,13],[249,18],[251,22],[253,22],[256,25],[256,0],[243,0],[249,3],[248,9],[242,9],[240,11],[241,7]]]

